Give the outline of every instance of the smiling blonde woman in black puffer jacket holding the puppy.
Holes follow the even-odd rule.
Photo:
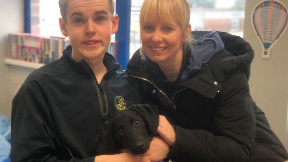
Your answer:
[[[251,46],[224,32],[190,33],[189,15],[186,0],[145,0],[141,7],[142,48],[127,72],[136,78],[146,101],[158,106],[163,115],[158,133],[171,148],[168,155],[154,149],[146,156],[172,161],[287,160],[287,151],[249,94]],[[167,150],[166,143],[157,140],[150,149]]]

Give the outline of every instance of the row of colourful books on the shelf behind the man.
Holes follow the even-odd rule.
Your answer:
[[[58,60],[68,45],[69,40],[65,38],[39,37],[28,33],[9,34],[8,57],[48,64]],[[106,51],[116,57],[117,43],[111,43]]]

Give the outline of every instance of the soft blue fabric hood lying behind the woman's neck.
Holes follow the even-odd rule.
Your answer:
[[[188,80],[195,72],[200,70],[202,65],[207,63],[214,54],[224,49],[224,43],[218,32],[203,31],[197,32],[192,36],[194,45],[187,51],[190,52],[189,65],[183,71],[179,82]]]

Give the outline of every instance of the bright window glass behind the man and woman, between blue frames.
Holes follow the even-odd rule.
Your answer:
[[[42,36],[63,37],[58,0],[31,1],[31,32]],[[217,30],[243,37],[245,0],[187,0],[191,6],[192,30]],[[143,0],[131,0],[129,58],[141,47],[139,14]],[[125,24],[123,24],[125,25]],[[115,35],[112,36],[112,41]]]

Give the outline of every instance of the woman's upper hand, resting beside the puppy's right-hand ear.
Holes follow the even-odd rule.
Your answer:
[[[174,146],[176,133],[166,117],[162,115],[159,115],[159,126],[157,132],[161,137],[163,137],[169,146]]]

